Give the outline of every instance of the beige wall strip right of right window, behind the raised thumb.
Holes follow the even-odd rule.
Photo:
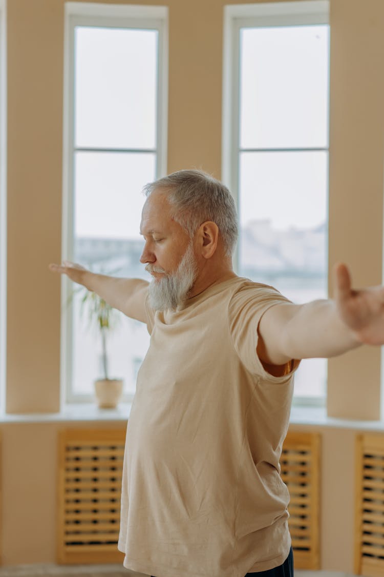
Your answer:
[[[384,2],[330,2],[329,264],[345,261],[355,286],[381,284]],[[380,351],[329,362],[332,417],[379,418]]]

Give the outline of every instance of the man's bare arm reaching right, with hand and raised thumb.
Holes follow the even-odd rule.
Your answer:
[[[261,361],[334,357],[360,344],[384,343],[384,287],[353,290],[344,264],[334,268],[334,299],[271,307],[261,317]]]

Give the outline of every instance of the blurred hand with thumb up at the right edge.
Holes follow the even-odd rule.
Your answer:
[[[334,267],[334,302],[340,319],[366,344],[384,344],[384,287],[353,290],[345,264]]]

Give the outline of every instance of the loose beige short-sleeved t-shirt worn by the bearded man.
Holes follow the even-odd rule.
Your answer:
[[[180,310],[154,313],[147,304],[150,347],[124,457],[125,567],[244,577],[288,556],[279,458],[293,378],[271,376],[256,354],[260,318],[282,302],[274,288],[236,277]]]

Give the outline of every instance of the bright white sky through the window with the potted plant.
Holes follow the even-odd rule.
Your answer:
[[[139,238],[141,190],[155,178],[157,43],[155,30],[75,29],[75,147],[142,151],[76,153],[77,237]]]

